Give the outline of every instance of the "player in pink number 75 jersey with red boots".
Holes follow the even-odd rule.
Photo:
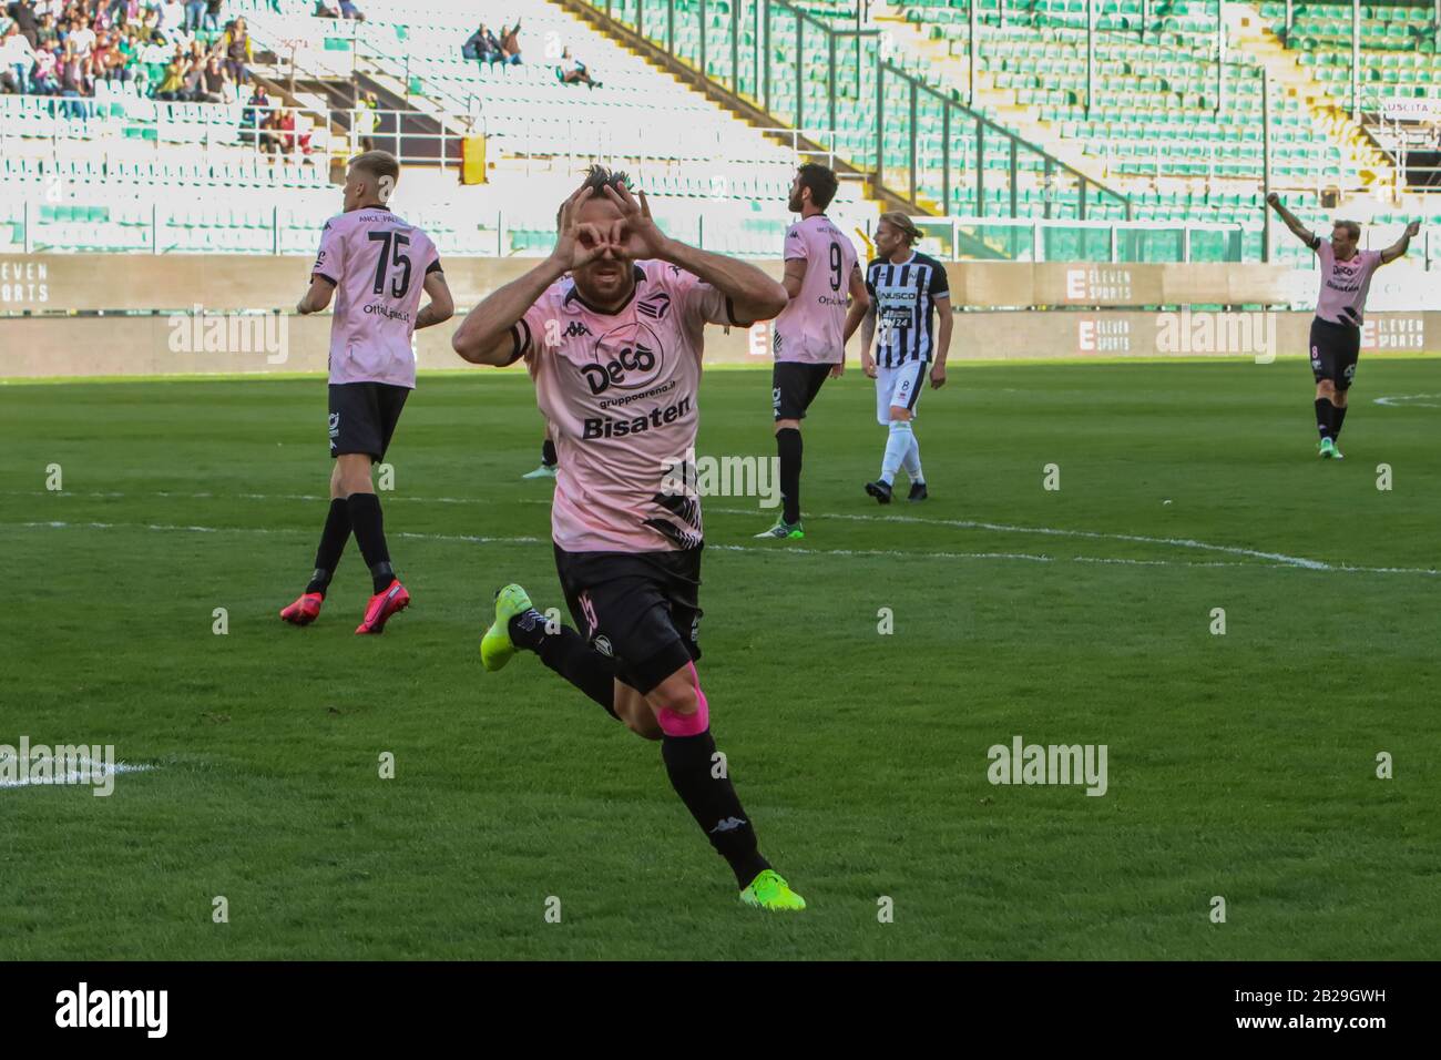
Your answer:
[[[344,212],[326,222],[310,290],[295,310],[320,313],[336,297],[330,324],[330,512],[310,584],[280,617],[308,626],[352,532],[370,568],[375,596],[356,633],[383,633],[411,594],[395,577],[370,464],[385,457],[415,388],[411,335],[455,312],[435,244],[385,205],[401,179],[386,151],[366,151],[346,173]],[[421,309],[421,291],[429,304]]]

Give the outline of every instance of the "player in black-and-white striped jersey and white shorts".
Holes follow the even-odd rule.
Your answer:
[[[880,459],[880,477],[866,483],[866,493],[879,503],[891,503],[891,483],[905,464],[911,479],[908,500],[925,500],[925,476],[921,472],[921,443],[911,428],[915,407],[925,387],[931,365],[931,388],[945,385],[945,355],[951,349],[951,287],[945,267],[915,249],[921,238],[911,218],[899,211],[882,213],[876,225],[878,257],[866,265],[866,291],[870,306],[859,303],[846,317],[846,335],[860,332],[860,368],[876,381],[876,420],[889,427],[886,451]],[[941,314],[937,332],[935,314]],[[880,319],[880,342],[870,356],[870,339]],[[934,358],[934,361],[932,361]]]

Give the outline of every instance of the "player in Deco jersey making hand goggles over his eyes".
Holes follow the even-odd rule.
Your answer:
[[[559,456],[550,529],[579,627],[549,626],[520,586],[496,594],[487,671],[530,650],[607,712],[659,740],[666,773],[741,900],[804,909],[761,857],[718,769],[696,661],[700,500],[677,476],[695,447],[703,332],[774,317],[785,291],[755,265],[666,237],[644,193],[594,166],[561,208],[550,257],[470,312],[452,337],[478,365],[525,359]]]

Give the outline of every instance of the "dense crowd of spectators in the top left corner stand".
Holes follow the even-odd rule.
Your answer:
[[[233,102],[249,79],[245,19],[225,0],[0,0],[0,91],[85,98],[99,82],[138,95]]]

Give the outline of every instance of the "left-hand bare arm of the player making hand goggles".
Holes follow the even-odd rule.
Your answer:
[[[589,187],[582,187],[561,206],[556,225],[555,249],[517,280],[491,291],[476,306],[455,335],[451,348],[473,365],[512,365],[526,350],[525,340],[514,330],[520,317],[545,294],[546,288],[572,268],[578,268],[607,247],[607,237],[595,225],[576,221],[581,206],[591,198]]]

